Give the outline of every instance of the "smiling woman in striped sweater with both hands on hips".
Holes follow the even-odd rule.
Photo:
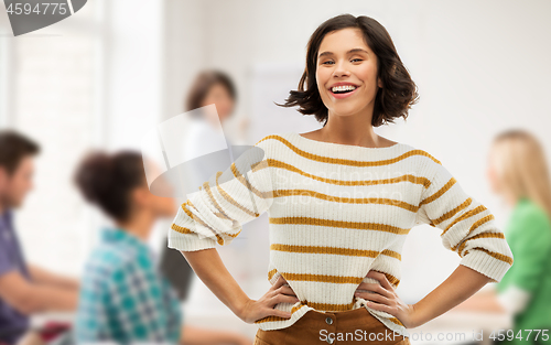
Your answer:
[[[312,34],[299,106],[323,128],[266,136],[204,188],[169,229],[197,277],[236,315],[259,326],[255,344],[410,344],[418,327],[499,282],[512,252],[494,215],[429,152],[374,127],[408,116],[413,80],[375,19],[341,14]],[[269,212],[272,287],[250,299],[216,250]],[[461,265],[414,304],[397,294],[408,233],[429,224]],[[352,335],[352,338],[350,338]]]

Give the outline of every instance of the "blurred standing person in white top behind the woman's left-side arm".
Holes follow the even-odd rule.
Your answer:
[[[247,120],[244,119],[239,122],[240,132],[230,133],[227,123],[235,116],[236,103],[237,88],[227,73],[208,68],[195,75],[183,107],[190,120],[183,149],[186,162],[191,162],[179,168],[179,176],[185,176],[185,191],[196,191],[217,170],[225,169],[223,166],[235,160],[234,153],[237,154],[237,151],[231,145],[234,141],[241,141],[240,136],[247,127]],[[214,107],[207,107],[209,105]],[[220,256],[227,260],[225,262],[236,279],[246,284],[250,276],[246,270],[249,252],[242,239],[236,241],[235,247],[220,248]],[[168,262],[163,267],[170,270],[168,276],[175,285],[185,290],[185,310],[188,314],[199,313],[201,310],[228,314],[227,308],[201,282],[180,251],[168,248],[168,242],[163,251],[163,260]]]

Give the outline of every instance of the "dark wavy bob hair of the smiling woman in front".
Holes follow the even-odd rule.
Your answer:
[[[323,37],[333,31],[357,28],[364,33],[366,44],[377,55],[377,78],[383,87],[375,96],[371,125],[379,127],[387,122],[408,117],[408,110],[419,100],[415,83],[396,51],[392,39],[378,21],[366,15],[354,17],[339,14],[323,22],[312,34],[307,43],[306,67],[299,82],[299,90],[291,90],[281,107],[299,106],[302,115],[314,115],[318,122],[327,123],[327,107],[322,101],[315,79],[317,53]]]

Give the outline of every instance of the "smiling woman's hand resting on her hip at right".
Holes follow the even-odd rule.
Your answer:
[[[370,270],[366,277],[378,280],[380,284],[363,282],[358,285],[357,290],[368,290],[369,292],[356,291],[354,293],[355,297],[367,300],[367,306],[371,309],[393,315],[400,320],[406,328],[418,326],[413,317],[414,306],[404,303],[398,297],[395,288],[383,273]]]

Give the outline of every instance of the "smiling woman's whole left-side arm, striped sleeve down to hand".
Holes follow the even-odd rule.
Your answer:
[[[268,211],[273,201],[268,140],[260,140],[244,152],[225,172],[190,194],[179,208],[169,230],[169,247],[180,250],[197,277],[237,316],[247,323],[291,313],[273,309],[278,303],[299,299],[281,278],[258,301],[249,299],[224,266],[216,244],[229,245],[242,224]]]

